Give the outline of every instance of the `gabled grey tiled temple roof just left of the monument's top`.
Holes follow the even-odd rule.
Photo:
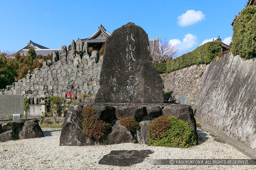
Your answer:
[[[92,34],[90,37],[81,39],[83,42],[88,42],[88,43],[100,43],[100,42],[105,42],[107,38],[111,35],[110,32],[108,32],[104,26],[100,24],[98,27],[98,30]]]

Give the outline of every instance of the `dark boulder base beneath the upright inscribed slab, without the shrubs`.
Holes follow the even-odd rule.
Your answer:
[[[60,146],[84,146],[95,144],[121,144],[121,143],[140,143],[147,144],[149,124],[161,115],[175,116],[185,120],[194,130],[196,141],[196,120],[193,110],[189,105],[180,104],[132,104],[129,103],[77,103],[71,105],[68,114],[62,125],[60,134]],[[82,109],[84,106],[94,106],[96,115],[101,120],[111,123],[111,132],[100,139],[92,139],[82,133],[83,118]],[[140,125],[140,130],[131,133],[117,120],[127,117],[135,118]]]

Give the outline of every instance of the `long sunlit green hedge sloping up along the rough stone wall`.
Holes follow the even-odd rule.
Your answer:
[[[166,62],[166,73],[174,70],[179,70],[192,65],[208,64],[217,58],[221,53],[222,42],[210,41],[199,47],[192,52],[183,54],[175,59]]]

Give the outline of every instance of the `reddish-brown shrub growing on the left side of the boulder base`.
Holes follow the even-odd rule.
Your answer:
[[[110,132],[111,124],[100,120],[93,106],[84,106],[82,114],[82,127],[85,135],[93,139],[99,139]]]

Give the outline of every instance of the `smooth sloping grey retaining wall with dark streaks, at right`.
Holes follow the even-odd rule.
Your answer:
[[[204,123],[256,149],[256,60],[223,55],[205,70],[194,104]]]

